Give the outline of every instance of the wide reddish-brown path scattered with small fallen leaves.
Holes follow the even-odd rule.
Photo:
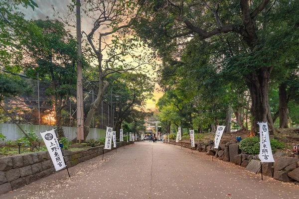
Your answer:
[[[136,142],[43,178],[0,199],[299,199],[299,187],[203,153]]]

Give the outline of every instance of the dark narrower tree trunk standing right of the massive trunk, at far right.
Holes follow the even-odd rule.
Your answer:
[[[288,125],[288,97],[287,97],[287,85],[282,83],[279,86],[279,127],[289,128]]]

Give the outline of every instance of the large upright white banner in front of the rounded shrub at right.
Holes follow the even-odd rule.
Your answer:
[[[272,148],[269,138],[269,130],[267,122],[259,122],[260,125],[260,154],[261,162],[274,162]]]

